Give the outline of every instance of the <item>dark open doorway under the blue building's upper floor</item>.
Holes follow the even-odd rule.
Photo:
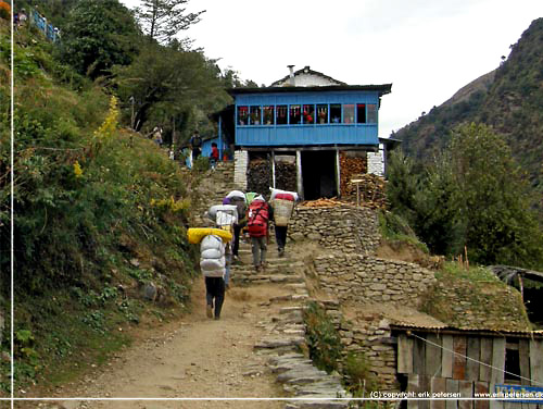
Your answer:
[[[336,184],[336,151],[308,150],[302,152],[304,199],[338,196]]]

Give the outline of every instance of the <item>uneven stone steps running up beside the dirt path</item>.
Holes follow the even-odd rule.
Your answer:
[[[254,271],[248,243],[240,241],[239,256],[242,264],[235,263],[231,268],[236,286],[277,285],[287,293],[272,297],[265,303],[277,307],[274,310],[278,313],[258,323],[267,335],[254,345],[255,354],[267,356],[268,368],[287,395],[303,399],[288,401],[285,408],[348,408],[348,400],[332,400],[351,397],[341,385],[341,377],[317,369],[302,352],[306,349],[303,309],[310,299],[303,261],[296,260],[288,247],[286,257],[279,258],[274,240],[268,245],[265,272]]]

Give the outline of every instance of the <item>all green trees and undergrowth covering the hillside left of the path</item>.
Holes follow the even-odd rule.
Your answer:
[[[16,9],[30,3],[16,2]],[[171,124],[181,142],[193,127],[204,136],[215,133],[209,114],[228,103],[224,88],[238,80],[235,72],[223,74],[203,52],[143,41],[137,22],[118,1],[81,7],[64,0],[40,7],[62,28],[60,47],[31,27],[21,28],[15,38],[17,388],[72,381],[129,344],[140,323],[155,324],[190,307],[198,260],[186,228],[199,200],[191,189],[203,174],[182,173],[165,150],[127,131],[130,97],[137,109],[140,101],[148,104],[138,128],[162,124],[168,132]],[[11,270],[12,261],[5,251],[11,247],[12,198],[9,28],[8,22],[0,23],[2,272]],[[160,98],[140,100],[130,92],[149,89],[146,80],[154,80],[138,71],[146,61],[142,51],[160,55],[147,60],[150,71],[176,62],[175,84],[167,78],[155,83],[173,87],[161,90]],[[141,75],[135,88],[132,75]],[[173,78],[172,71],[167,75]],[[205,159],[198,165],[207,169]],[[0,308],[9,311],[10,282],[2,277],[0,284]],[[0,346],[4,352],[10,349],[9,330]],[[0,365],[0,373],[9,373],[9,361]],[[9,380],[0,379],[0,394],[8,387]]]

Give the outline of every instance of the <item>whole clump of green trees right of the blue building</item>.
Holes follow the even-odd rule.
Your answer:
[[[543,268],[533,198],[509,148],[484,125],[460,125],[445,151],[415,171],[394,152],[388,197],[433,253],[467,248],[480,264]]]

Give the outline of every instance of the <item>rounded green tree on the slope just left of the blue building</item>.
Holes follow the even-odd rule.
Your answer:
[[[210,122],[207,115],[229,100],[213,61],[199,51],[178,51],[147,44],[129,66],[118,67],[116,86],[122,100],[134,100],[134,124],[171,123],[176,132]],[[179,115],[184,119],[179,119]]]

